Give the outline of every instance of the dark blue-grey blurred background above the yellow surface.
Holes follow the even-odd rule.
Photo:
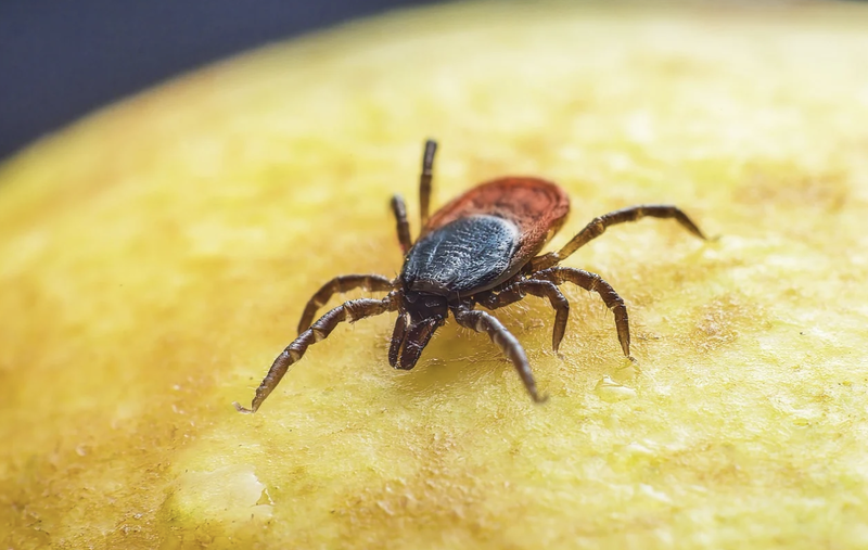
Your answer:
[[[199,65],[423,3],[433,0],[0,0],[0,161]]]

